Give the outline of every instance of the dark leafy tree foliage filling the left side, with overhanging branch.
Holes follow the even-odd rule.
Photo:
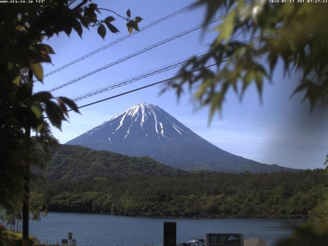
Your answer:
[[[42,166],[57,144],[46,116],[60,129],[69,109],[78,112],[67,97],[32,92],[37,80],[44,81],[42,63],[51,63],[50,56],[55,54],[43,42],[60,32],[69,36],[75,31],[81,37],[83,28],[91,27],[97,27],[103,38],[105,26],[117,33],[115,18],[100,19],[97,14],[101,11],[115,13],[90,0],[0,4],[0,209],[16,209],[24,198],[25,177],[31,176],[28,167]],[[127,21],[129,32],[139,30],[141,17],[132,19],[130,10],[127,17],[116,15]],[[34,139],[26,136],[28,129],[35,131]]]

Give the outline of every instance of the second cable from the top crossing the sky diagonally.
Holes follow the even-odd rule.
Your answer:
[[[218,20],[220,20],[221,18],[223,18],[224,16],[226,16],[226,15],[221,15],[221,16],[219,16],[219,17],[216,17],[216,18],[212,19],[210,22],[208,22],[208,23],[206,23],[206,24],[201,24],[201,25],[198,25],[198,26],[196,26],[196,27],[193,27],[193,28],[191,28],[191,29],[189,29],[189,30],[187,30],[187,31],[180,32],[179,34],[176,34],[176,35],[174,35],[174,36],[172,36],[172,37],[169,37],[169,38],[167,38],[167,39],[164,39],[164,40],[162,40],[162,41],[160,41],[160,42],[158,42],[158,43],[156,43],[156,44],[153,44],[153,45],[151,45],[151,46],[149,46],[149,47],[147,47],[147,48],[141,49],[141,50],[139,50],[139,51],[137,51],[137,52],[135,52],[135,53],[133,53],[133,54],[130,54],[130,55],[128,55],[128,56],[125,56],[125,57],[123,57],[123,58],[120,58],[120,59],[118,59],[118,60],[116,60],[116,61],[113,61],[112,63],[110,63],[110,64],[108,64],[108,65],[106,65],[106,66],[104,66],[104,67],[98,68],[98,69],[93,70],[93,71],[91,71],[91,72],[89,72],[89,73],[86,73],[86,74],[84,74],[84,75],[82,75],[82,76],[79,76],[79,77],[77,77],[77,78],[75,78],[75,79],[72,79],[72,80],[68,81],[67,83],[62,84],[62,85],[60,85],[60,86],[57,86],[57,87],[55,87],[55,88],[53,88],[53,89],[51,89],[51,90],[49,90],[49,91],[52,92],[52,91],[58,90],[58,89],[60,89],[60,88],[63,88],[63,87],[65,87],[65,86],[71,85],[71,84],[77,82],[78,80],[81,80],[81,79],[83,79],[83,78],[85,78],[85,77],[88,77],[88,76],[90,76],[90,75],[92,75],[92,74],[94,74],[94,73],[97,73],[97,72],[100,72],[101,70],[104,70],[104,69],[107,69],[107,68],[109,68],[109,67],[112,67],[112,66],[114,66],[114,65],[116,65],[116,64],[121,63],[122,61],[125,61],[125,60],[130,59],[130,58],[132,58],[132,57],[134,57],[134,56],[137,56],[137,55],[139,55],[139,54],[141,54],[141,53],[144,53],[144,52],[146,52],[146,51],[148,51],[148,50],[151,50],[151,49],[153,49],[153,48],[155,48],[155,47],[157,47],[157,46],[160,46],[160,45],[162,45],[162,44],[166,44],[166,43],[168,43],[168,42],[170,42],[170,41],[172,41],[172,40],[174,40],[174,39],[176,39],[176,38],[179,38],[179,37],[181,37],[181,36],[183,36],[183,35],[186,35],[186,34],[188,34],[188,33],[191,33],[191,32],[193,32],[193,31],[196,31],[196,30],[198,30],[198,29],[200,29],[200,28],[202,28],[202,27],[204,27],[204,26],[207,26],[207,25],[210,25],[210,24],[212,24],[212,23],[215,23],[215,22],[217,22]]]

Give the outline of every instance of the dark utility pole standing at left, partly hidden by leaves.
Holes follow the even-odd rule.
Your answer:
[[[29,70],[28,73],[28,81],[27,81],[29,87],[30,87],[30,96],[32,96],[32,90],[33,90],[33,73],[32,70]],[[27,138],[31,137],[31,127],[25,128],[25,135]],[[27,161],[25,170],[23,172],[24,175],[24,199],[23,199],[23,240],[22,240],[22,246],[28,246],[29,245],[29,199],[30,199],[30,163]]]

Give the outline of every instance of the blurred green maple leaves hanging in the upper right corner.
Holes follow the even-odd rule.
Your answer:
[[[312,108],[328,102],[327,4],[198,0],[198,5],[207,8],[205,23],[220,14],[226,17],[215,28],[208,54],[190,59],[167,89],[180,96],[183,86],[189,86],[199,107],[210,106],[212,117],[230,90],[242,98],[254,84],[261,96],[264,81],[272,80],[282,60],[284,76],[297,71],[302,75],[294,93],[304,93]]]

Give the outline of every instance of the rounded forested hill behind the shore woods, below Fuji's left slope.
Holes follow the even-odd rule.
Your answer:
[[[183,175],[185,171],[165,166],[149,157],[130,157],[109,151],[62,145],[42,171],[47,179],[80,179],[108,175]]]

